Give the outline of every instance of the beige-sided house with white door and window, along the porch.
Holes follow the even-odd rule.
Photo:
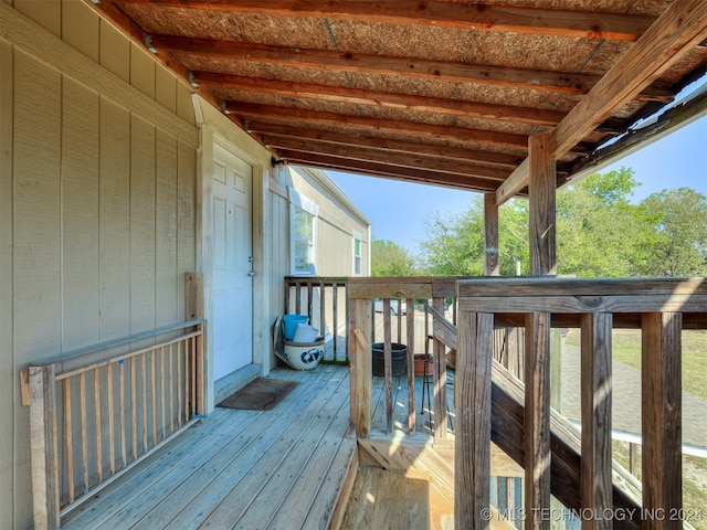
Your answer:
[[[202,273],[211,410],[270,372],[284,276],[368,274],[370,231],[82,1],[0,23],[0,528],[29,528],[20,370],[186,320]]]

